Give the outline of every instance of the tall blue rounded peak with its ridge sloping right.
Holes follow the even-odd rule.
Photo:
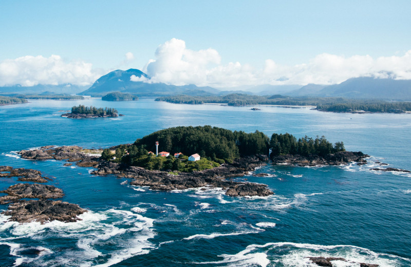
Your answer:
[[[115,70],[100,77],[90,88],[81,92],[83,96],[104,96],[109,92],[127,92],[142,96],[167,96],[171,94],[192,93],[194,95],[216,94],[219,90],[212,87],[198,87],[194,84],[176,86],[165,83],[145,83],[132,81],[130,78],[148,78],[147,74],[138,69]]]

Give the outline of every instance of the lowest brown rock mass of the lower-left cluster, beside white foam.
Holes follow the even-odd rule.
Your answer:
[[[9,220],[16,222],[58,220],[62,222],[75,222],[81,220],[77,216],[87,212],[79,205],[52,200],[29,200],[10,204],[8,210],[3,212],[11,216]]]

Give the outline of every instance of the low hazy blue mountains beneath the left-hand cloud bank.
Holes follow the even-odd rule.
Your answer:
[[[21,85],[13,85],[13,86],[2,86],[0,87],[0,93],[2,94],[12,94],[12,93],[23,93],[23,94],[45,94],[46,92],[49,94],[74,94],[84,91],[87,86],[79,86],[74,84],[59,84],[59,85],[51,85],[51,84],[38,84],[35,86],[21,86]]]

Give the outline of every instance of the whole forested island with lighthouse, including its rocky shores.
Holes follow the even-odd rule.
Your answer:
[[[158,156],[152,152],[156,151],[156,142],[161,151]],[[34,160],[67,159],[79,166],[97,167],[92,174],[132,178],[130,184],[152,189],[211,186],[225,188],[229,196],[272,195],[267,185],[227,180],[248,174],[269,163],[269,158],[273,163],[307,166],[351,161],[365,164],[368,157],[362,152],[345,151],[343,142],[331,144],[325,137],[297,140],[289,133],[273,133],[269,138],[260,131],[247,133],[208,125],[159,130],[133,144],[106,148],[101,156],[89,156],[77,146],[46,146],[18,154]]]

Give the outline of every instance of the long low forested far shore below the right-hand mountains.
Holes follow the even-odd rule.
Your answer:
[[[382,100],[358,100],[346,98],[286,97],[279,94],[273,96],[251,96],[233,93],[227,96],[169,96],[159,97],[156,101],[176,104],[220,103],[229,106],[245,105],[280,105],[280,106],[315,106],[316,110],[329,112],[386,112],[404,113],[411,111],[411,102],[388,102]]]

